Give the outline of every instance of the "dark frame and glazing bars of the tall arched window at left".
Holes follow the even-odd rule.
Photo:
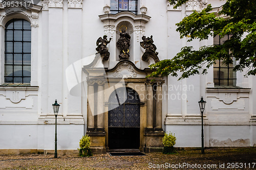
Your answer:
[[[14,28],[14,22],[15,21],[17,21],[17,20],[22,20],[22,29],[15,29]],[[5,38],[4,38],[4,45],[5,45],[5,52],[4,52],[4,56],[5,56],[5,62],[4,62],[4,82],[5,83],[13,83],[13,84],[15,84],[15,83],[22,83],[22,84],[28,84],[28,83],[30,83],[31,82],[31,72],[32,72],[32,70],[31,70],[31,62],[32,62],[32,60],[31,60],[31,53],[32,53],[32,49],[31,49],[31,42],[32,42],[32,28],[31,28],[31,26],[30,26],[30,29],[26,29],[26,28],[24,28],[24,21],[27,21],[28,23],[29,23],[29,26],[30,26],[30,22],[28,21],[28,20],[26,20],[26,19],[23,19],[23,18],[13,18],[13,19],[10,19],[10,20],[8,20],[7,22],[6,22],[6,24],[5,24],[5,26],[7,26],[8,25],[8,23],[9,23],[9,25],[11,24],[12,25],[12,29],[7,29],[7,28],[5,28],[5,30],[4,30],[4,32],[5,32]],[[7,31],[8,30],[10,30],[10,31],[12,31],[12,40],[7,40],[7,38],[6,38],[6,33],[7,33]],[[14,38],[14,32],[15,31],[22,31],[22,40],[20,41],[20,40],[15,40],[15,38]],[[24,40],[24,31],[30,31],[30,41],[27,41],[27,40]],[[12,52],[6,52],[6,42],[12,42]],[[22,52],[14,52],[14,42],[22,42]],[[24,52],[24,43],[30,43],[30,51],[29,52]],[[6,55],[7,54],[12,54],[12,64],[7,64],[6,63]],[[17,63],[15,63],[14,64],[14,55],[15,54],[21,54],[22,55],[22,63],[21,64],[17,64]],[[26,64],[26,63],[24,63],[24,55],[25,54],[29,54],[30,55],[30,63],[29,64]],[[12,66],[12,76],[6,76],[6,66],[7,65],[11,65]],[[15,76],[14,75],[14,66],[22,66],[22,75],[21,76]],[[24,71],[25,71],[25,69],[24,69],[24,67],[25,66],[28,66],[29,68],[30,68],[30,76],[25,76],[24,75]],[[12,82],[6,82],[6,78],[12,78]],[[15,79],[14,78],[21,78],[22,79],[22,82],[16,82],[16,81],[14,81]],[[30,78],[30,80],[29,80],[29,82],[25,82],[24,81],[24,79],[25,78]]]

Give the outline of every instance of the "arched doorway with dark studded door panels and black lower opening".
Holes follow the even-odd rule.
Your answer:
[[[109,148],[138,149],[140,143],[140,100],[132,88],[115,89],[109,98]]]

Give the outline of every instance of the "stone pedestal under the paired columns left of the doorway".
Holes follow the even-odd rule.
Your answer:
[[[93,154],[105,154],[105,136],[104,128],[88,128],[87,134],[91,139],[91,150]]]

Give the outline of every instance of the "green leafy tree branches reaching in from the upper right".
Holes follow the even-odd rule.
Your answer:
[[[177,8],[186,1],[170,0],[170,4]],[[150,65],[150,68],[157,70],[148,77],[177,77],[177,72],[181,72],[180,80],[200,74],[200,70],[202,74],[207,74],[207,69],[216,60],[221,59],[225,64],[229,64],[232,63],[232,57],[239,61],[233,71],[246,69],[246,76],[256,74],[256,1],[227,0],[218,16],[210,12],[211,10],[211,5],[208,5],[201,12],[194,11],[176,23],[180,37],[187,37],[187,41],[192,41],[205,40],[209,36],[222,38],[231,34],[231,38],[222,45],[202,46],[199,50],[184,46],[173,59]]]

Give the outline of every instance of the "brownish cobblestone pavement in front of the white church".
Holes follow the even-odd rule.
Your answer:
[[[58,155],[0,155],[0,169],[256,169],[256,148],[221,148],[147,153],[145,156],[110,156],[109,153],[78,157]],[[254,167],[253,167],[254,166]],[[250,168],[249,168],[250,167]]]

